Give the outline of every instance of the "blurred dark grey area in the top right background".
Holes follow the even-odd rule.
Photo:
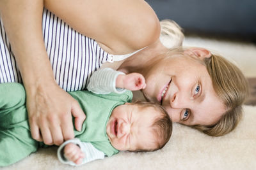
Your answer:
[[[159,20],[175,20],[185,34],[256,40],[255,0],[146,0]]]

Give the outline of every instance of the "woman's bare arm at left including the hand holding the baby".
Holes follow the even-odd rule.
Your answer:
[[[72,116],[79,130],[85,118],[79,104],[54,80],[42,36],[41,0],[1,0],[4,28],[26,89],[32,137],[47,145],[74,138]]]

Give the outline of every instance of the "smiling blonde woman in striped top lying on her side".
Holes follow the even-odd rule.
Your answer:
[[[147,81],[143,94],[149,101],[163,105],[173,122],[193,126],[211,136],[227,134],[236,127],[247,93],[241,71],[204,48],[169,50],[163,46],[159,41],[159,20],[145,1],[9,0],[1,1],[0,6],[12,45],[8,49],[15,55],[26,88],[34,139],[60,145],[73,138],[72,122],[68,120],[75,117],[79,130],[84,113],[62,89],[84,89],[90,74],[99,67],[143,74]],[[44,11],[48,17],[42,21],[43,6],[87,38],[49,11]],[[74,48],[77,51],[72,50],[79,45]],[[127,53],[128,58],[121,56]],[[85,57],[79,58],[80,55]],[[15,68],[6,67],[1,68],[2,80],[18,81],[8,80],[7,76],[4,80],[4,75]],[[82,83],[77,85],[73,79]]]

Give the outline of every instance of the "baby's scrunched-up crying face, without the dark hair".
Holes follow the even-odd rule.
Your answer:
[[[152,124],[157,118],[152,107],[142,108],[126,103],[117,106],[107,124],[107,134],[111,145],[117,150],[135,151],[156,148]]]

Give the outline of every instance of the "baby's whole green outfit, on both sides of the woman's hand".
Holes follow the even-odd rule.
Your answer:
[[[108,156],[118,153],[108,140],[106,124],[116,106],[131,102],[132,92],[99,95],[83,90],[69,93],[86,114],[82,131],[74,130],[76,138],[91,142]],[[31,138],[24,87],[19,83],[0,84],[0,166],[27,157],[39,146],[40,143]]]

